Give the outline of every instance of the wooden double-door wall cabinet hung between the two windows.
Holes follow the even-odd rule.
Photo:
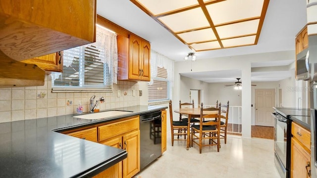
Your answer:
[[[150,43],[132,34],[118,35],[117,40],[118,80],[150,81]]]

